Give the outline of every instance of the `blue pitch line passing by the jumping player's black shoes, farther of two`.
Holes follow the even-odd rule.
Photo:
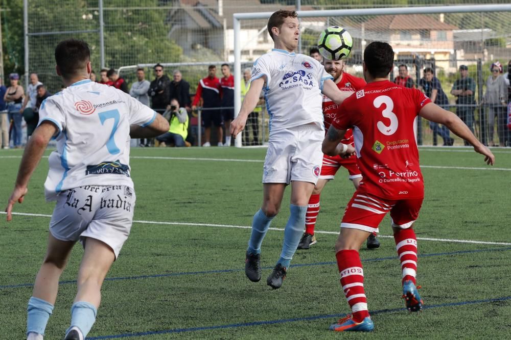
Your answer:
[[[470,253],[480,253],[480,252],[493,252],[493,251],[506,251],[511,250],[511,247],[505,248],[493,248],[493,249],[476,249],[476,250],[458,250],[458,251],[450,251],[445,253],[430,253],[430,254],[419,254],[419,257],[430,257],[430,256],[449,256],[449,255],[459,255],[459,254],[470,254]],[[397,256],[388,256],[388,257],[377,257],[377,258],[367,258],[363,259],[362,262],[373,262],[373,261],[386,261],[386,260],[397,260]],[[306,264],[296,264],[291,265],[289,268],[299,268],[299,267],[314,267],[314,266],[330,266],[337,264],[335,261],[327,261],[327,262],[314,262],[314,263],[306,263]],[[263,269],[273,269],[273,267],[263,267]],[[120,281],[120,280],[139,280],[139,279],[148,279],[148,278],[158,278],[158,277],[172,277],[172,276],[183,276],[183,275],[205,275],[205,274],[218,274],[218,273],[234,273],[241,272],[243,268],[237,269],[217,269],[217,270],[205,270],[205,271],[197,271],[197,272],[178,272],[178,273],[168,273],[168,274],[152,274],[152,275],[137,275],[137,276],[121,276],[121,277],[107,277],[105,281]],[[76,280],[67,280],[60,281],[59,284],[69,284],[76,283]],[[20,287],[32,287],[33,283],[19,283],[19,284],[9,284],[9,285],[0,285],[0,290],[8,289],[8,288],[20,288]]]

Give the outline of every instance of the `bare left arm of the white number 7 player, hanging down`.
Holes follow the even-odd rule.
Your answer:
[[[25,152],[19,164],[18,176],[14,190],[9,197],[5,212],[7,213],[7,221],[12,220],[12,206],[18,202],[22,203],[25,195],[28,192],[27,186],[32,176],[32,173],[37,168],[37,164],[42,158],[44,150],[48,145],[50,139],[58,132],[57,126],[48,120],[43,120],[39,126],[36,127],[34,133],[30,137]]]

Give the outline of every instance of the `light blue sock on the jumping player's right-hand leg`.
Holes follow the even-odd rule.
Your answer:
[[[281,258],[277,261],[277,264],[281,264],[286,268],[289,268],[294,252],[298,248],[298,243],[300,243],[301,234],[305,230],[307,205],[299,206],[291,204],[290,211],[291,214],[284,229],[284,244],[282,245]]]

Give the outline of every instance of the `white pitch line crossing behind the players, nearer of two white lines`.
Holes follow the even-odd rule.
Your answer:
[[[0,214],[6,214],[4,212],[0,212]],[[44,214],[29,214],[29,213],[12,213],[13,215],[20,216],[35,216],[35,217],[52,217],[51,215]],[[248,225],[231,225],[231,224],[211,224],[211,223],[191,223],[191,222],[158,222],[158,221],[141,221],[141,220],[133,220],[133,223],[143,223],[143,224],[163,224],[163,225],[188,225],[194,227],[218,227],[218,228],[237,228],[237,229],[251,229],[251,226]],[[269,230],[277,230],[284,231],[283,228],[269,228]],[[333,234],[338,235],[338,231],[324,231],[324,230],[314,230],[315,233],[318,234]],[[393,238],[390,235],[379,235],[378,237],[382,238]],[[436,242],[453,242],[453,243],[471,243],[471,244],[495,244],[501,246],[510,246],[511,243],[506,242],[489,242],[489,241],[475,241],[475,240],[454,240],[454,239],[433,239],[433,238],[417,238],[417,240],[421,241],[436,241]]]

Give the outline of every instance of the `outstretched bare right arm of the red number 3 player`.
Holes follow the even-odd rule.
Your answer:
[[[427,120],[435,123],[444,124],[451,130],[456,136],[463,138],[469,142],[474,150],[484,155],[484,162],[493,165],[495,163],[495,156],[489,148],[484,146],[470,131],[469,127],[463,123],[463,121],[451,111],[444,110],[433,104],[432,102],[427,103],[419,112],[419,115]]]

